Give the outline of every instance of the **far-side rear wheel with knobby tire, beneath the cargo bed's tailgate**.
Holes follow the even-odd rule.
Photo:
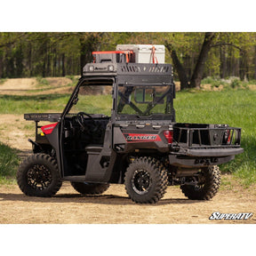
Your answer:
[[[220,169],[217,165],[209,166],[198,173],[193,185],[180,186],[182,193],[191,200],[210,200],[220,187]]]

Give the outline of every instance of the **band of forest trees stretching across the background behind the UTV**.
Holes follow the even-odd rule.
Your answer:
[[[164,44],[181,90],[207,76],[256,79],[253,32],[0,32],[0,79],[79,76],[93,51],[116,44]]]

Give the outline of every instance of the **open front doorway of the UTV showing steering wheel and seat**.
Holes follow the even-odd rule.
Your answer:
[[[109,77],[82,77],[76,85],[60,121],[60,164],[63,180],[108,182],[111,175],[111,158],[115,155],[111,145],[110,117],[105,114],[89,114],[85,109],[88,92],[102,90],[99,99],[104,98],[103,93],[113,82]],[[97,99],[95,97],[95,101]],[[78,105],[79,101],[82,101],[82,109],[76,109],[76,103],[78,102]],[[93,107],[99,108],[97,104],[100,104],[100,101],[95,103],[96,106]],[[111,108],[112,106],[107,109],[107,114],[110,114]],[[91,109],[93,111],[93,108]]]

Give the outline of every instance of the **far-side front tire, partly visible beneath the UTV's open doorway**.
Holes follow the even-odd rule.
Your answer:
[[[100,195],[109,188],[109,184],[86,183],[75,181],[72,181],[70,183],[71,186],[82,195]]]

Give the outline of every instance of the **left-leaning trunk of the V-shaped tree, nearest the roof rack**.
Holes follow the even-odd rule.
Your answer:
[[[177,70],[177,73],[180,79],[180,90],[188,88],[189,87],[188,77],[186,75],[185,69],[183,68],[183,65],[180,63],[180,60],[177,56],[176,51],[172,48],[171,44],[167,44],[165,42],[165,46],[168,49],[168,51],[171,53],[173,68]]]

